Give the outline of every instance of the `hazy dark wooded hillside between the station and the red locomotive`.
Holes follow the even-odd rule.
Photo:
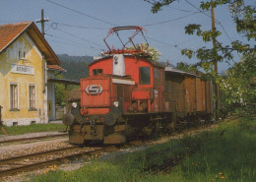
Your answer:
[[[89,76],[88,65],[94,61],[93,56],[69,56],[58,54],[61,67],[67,70],[63,73],[65,79],[79,81],[81,78]]]

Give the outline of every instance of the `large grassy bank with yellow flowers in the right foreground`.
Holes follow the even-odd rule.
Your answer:
[[[145,151],[119,155],[97,161],[79,170],[49,171],[32,181],[173,181],[253,182],[256,179],[256,119],[240,119],[220,123],[211,131],[186,136],[151,147]],[[154,175],[145,171],[153,164],[178,152],[193,152],[168,174]],[[158,153],[151,156],[152,153]]]

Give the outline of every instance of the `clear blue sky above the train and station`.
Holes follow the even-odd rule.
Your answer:
[[[178,0],[153,14],[152,4],[144,0],[0,0],[0,25],[35,22],[41,18],[43,9],[44,17],[49,19],[44,28],[46,40],[56,54],[71,56],[97,56],[107,50],[103,39],[110,28],[140,26],[147,30],[145,35],[150,46],[160,51],[160,61],[168,60],[173,65],[181,61],[196,63],[196,58],[181,55],[181,49],[212,47],[212,42],[205,43],[196,35],[185,34],[188,24],[201,24],[203,30],[212,29],[211,12],[200,12],[200,2]],[[216,28],[223,32],[218,41],[230,44],[242,39],[226,6],[215,9],[215,14]],[[39,23],[35,25],[41,30]],[[120,36],[126,40],[128,34]],[[135,39],[140,40],[143,40],[141,36]],[[108,43],[115,48],[119,46],[114,36]],[[236,55],[234,61],[238,60]],[[219,65],[220,72],[227,68],[227,64]]]

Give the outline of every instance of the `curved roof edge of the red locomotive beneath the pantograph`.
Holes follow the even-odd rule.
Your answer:
[[[103,56],[98,56],[95,57],[95,61],[92,62],[89,66],[92,66],[94,64],[96,64],[99,61],[102,61],[104,59],[108,59],[109,57],[112,57],[113,55],[103,55]],[[142,58],[144,61],[150,63],[152,66],[158,67],[158,68],[164,68],[164,65],[162,65],[160,62],[158,61],[151,61],[149,59],[147,59],[147,57],[143,57],[143,56],[138,56],[138,55],[132,55],[132,54],[124,54],[125,57],[137,57],[137,58]]]

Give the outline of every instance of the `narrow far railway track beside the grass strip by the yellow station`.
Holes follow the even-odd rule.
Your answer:
[[[32,143],[32,142],[36,142],[36,141],[40,141],[40,140],[56,139],[56,138],[62,138],[62,137],[68,137],[68,134],[46,135],[46,136],[0,141],[0,147],[8,146],[8,145],[16,144],[16,143]]]

